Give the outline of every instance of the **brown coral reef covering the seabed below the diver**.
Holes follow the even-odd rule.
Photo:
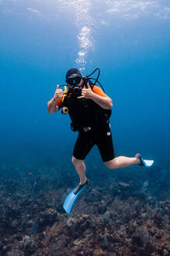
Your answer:
[[[62,204],[75,174],[2,172],[0,256],[168,256],[168,194],[164,201],[151,194],[148,176],[127,181],[130,169],[123,179],[107,171],[103,179],[101,170],[93,182],[94,172],[71,215]]]

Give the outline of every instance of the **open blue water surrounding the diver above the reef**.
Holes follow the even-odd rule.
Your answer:
[[[68,116],[47,113],[47,101],[68,69],[88,75],[99,67],[113,99],[116,155],[141,152],[169,169],[170,3],[68,2],[0,1],[1,161],[60,163],[69,172],[77,133]],[[82,27],[90,29],[87,48]],[[76,62],[79,51],[86,63]],[[96,148],[92,158],[102,165]]]

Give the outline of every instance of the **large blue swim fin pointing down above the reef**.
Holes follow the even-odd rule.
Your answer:
[[[82,193],[82,191],[87,187],[88,181],[86,181],[85,185],[82,186],[82,188],[79,190],[78,187],[75,187],[74,190],[71,190],[71,192],[68,194],[68,196],[65,198],[63,208],[65,212],[68,214],[71,213],[71,209],[73,205],[75,204],[76,199],[78,198],[79,194]],[[75,193],[75,191],[77,191]]]

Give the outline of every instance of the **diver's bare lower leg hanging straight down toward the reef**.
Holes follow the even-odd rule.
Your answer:
[[[75,165],[75,169],[78,172],[78,176],[80,177],[80,184],[84,184],[87,180],[85,176],[85,163],[83,162],[83,160],[79,160],[74,156],[72,157],[71,162],[73,163],[73,165]]]

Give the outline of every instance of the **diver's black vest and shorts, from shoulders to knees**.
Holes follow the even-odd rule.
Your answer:
[[[75,98],[73,95],[64,98],[63,106],[68,108],[72,121],[71,129],[78,130],[73,156],[81,160],[85,159],[96,144],[103,162],[115,158],[109,124],[111,110],[101,108],[90,99]]]

